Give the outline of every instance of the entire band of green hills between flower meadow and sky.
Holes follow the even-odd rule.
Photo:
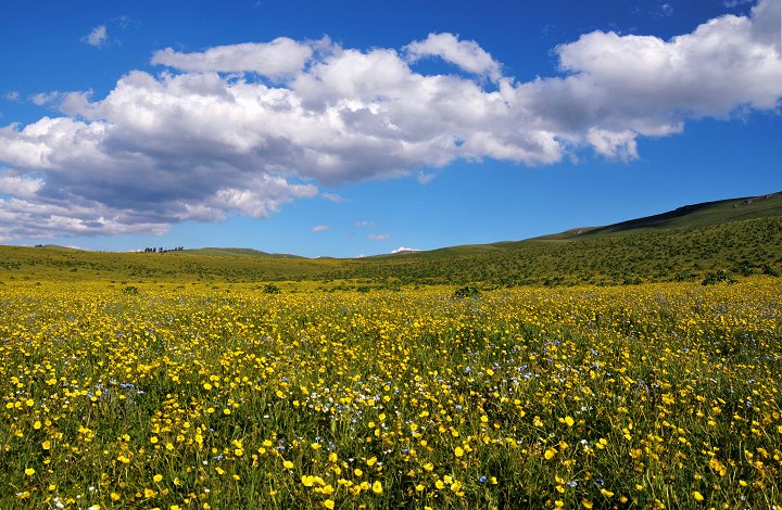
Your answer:
[[[402,284],[622,284],[782,272],[782,194],[681,207],[621,224],[526,241],[363,259],[248,248],[94,253],[0,246],[0,281],[317,281],[329,288]]]

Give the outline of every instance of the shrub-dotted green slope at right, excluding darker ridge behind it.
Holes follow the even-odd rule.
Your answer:
[[[621,284],[695,280],[709,271],[778,272],[782,217],[581,238],[531,240],[483,252],[442,250],[362,260],[333,279],[400,283]]]

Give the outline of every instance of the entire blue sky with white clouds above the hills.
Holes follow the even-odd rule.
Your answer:
[[[0,243],[355,257],[782,191],[781,3],[4,0]]]

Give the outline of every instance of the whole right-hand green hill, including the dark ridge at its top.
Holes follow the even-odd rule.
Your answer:
[[[578,284],[782,271],[782,193],[707,202],[524,241],[371,257],[332,278]]]

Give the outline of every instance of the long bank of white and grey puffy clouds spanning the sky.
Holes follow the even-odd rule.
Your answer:
[[[36,95],[62,116],[0,127],[0,235],[263,218],[335,197],[320,187],[426,182],[456,160],[545,165],[588,150],[631,161],[640,137],[779,109],[779,2],[761,0],[670,40],[593,31],[555,48],[556,76],[531,81],[452,34],[401,49],[289,38],[165,49],[157,73],[130,71],[104,98]],[[417,71],[430,56],[463,73]]]

